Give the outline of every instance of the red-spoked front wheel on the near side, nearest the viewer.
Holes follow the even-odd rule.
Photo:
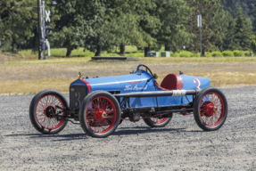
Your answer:
[[[88,135],[105,138],[120,124],[120,104],[112,94],[97,91],[84,99],[78,117],[81,127]]]

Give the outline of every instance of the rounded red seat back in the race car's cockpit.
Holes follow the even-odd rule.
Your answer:
[[[182,77],[178,74],[169,74],[163,78],[161,87],[167,90],[181,90],[183,88]]]

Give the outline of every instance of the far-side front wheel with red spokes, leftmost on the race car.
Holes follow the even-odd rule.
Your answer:
[[[51,89],[39,92],[30,102],[29,118],[38,132],[57,134],[67,125],[68,121],[49,116],[52,112],[54,115],[58,113],[59,109],[56,109],[55,105],[65,108],[68,107],[68,102],[61,93]],[[62,115],[65,116],[65,113]]]

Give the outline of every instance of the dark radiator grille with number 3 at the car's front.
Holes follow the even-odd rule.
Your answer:
[[[70,86],[70,109],[78,110],[86,96],[86,86]]]

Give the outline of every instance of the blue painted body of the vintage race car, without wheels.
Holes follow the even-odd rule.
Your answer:
[[[178,75],[181,79],[184,90],[193,90],[193,89],[203,89],[211,85],[211,81],[209,78],[205,77],[194,77],[194,76],[186,76],[186,75]],[[70,102],[70,107],[79,108],[79,104],[83,101],[84,97],[87,94],[93,93],[98,90],[103,90],[111,93],[118,94],[128,94],[135,92],[152,92],[152,91],[166,91],[166,90],[176,90],[174,89],[166,89],[161,88],[156,82],[154,78],[146,72],[142,70],[141,72],[136,72],[129,75],[116,76],[116,77],[95,77],[95,78],[82,78],[78,79],[70,84],[70,98],[76,99],[77,102]],[[166,77],[165,79],[168,79]],[[149,80],[150,79],[150,80]],[[170,79],[177,79],[176,77],[170,77]],[[149,80],[149,81],[148,81]],[[177,80],[169,80],[177,81]],[[84,87],[86,91],[81,94],[76,91],[77,88]],[[73,90],[73,91],[72,91]],[[73,97],[78,96],[79,98]],[[120,101],[123,100],[121,97]],[[178,105],[178,104],[186,104],[189,102],[193,102],[193,95],[186,96],[183,98],[179,97],[131,97],[130,105],[132,108],[138,107],[148,107],[148,106],[169,106],[169,105]]]

